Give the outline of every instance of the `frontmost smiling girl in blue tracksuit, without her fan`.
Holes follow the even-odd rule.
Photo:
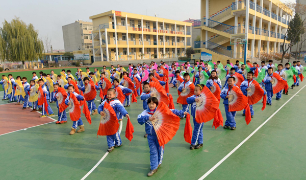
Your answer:
[[[137,121],[140,125],[145,124],[145,132],[148,134],[148,144],[150,148],[150,171],[147,174],[147,176],[152,176],[157,172],[157,168],[160,167],[163,161],[163,154],[164,154],[164,147],[160,146],[158,138],[157,138],[157,132],[155,131],[154,125],[152,124],[153,121],[155,121],[155,117],[152,117],[154,115],[157,106],[159,105],[158,99],[156,97],[150,97],[147,100],[148,108],[140,115],[138,115]],[[166,109],[164,109],[166,110]],[[168,109],[170,110],[170,109]],[[182,110],[177,109],[171,109],[172,113],[176,116],[183,117],[184,115],[187,115],[186,112]],[[168,119],[163,119],[163,121],[167,121]],[[171,129],[169,129],[170,131]]]

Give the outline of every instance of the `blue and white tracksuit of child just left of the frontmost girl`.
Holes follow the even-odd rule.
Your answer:
[[[119,121],[120,114],[123,115],[124,117],[125,117],[125,115],[127,115],[127,111],[125,110],[125,108],[123,107],[121,102],[116,98],[113,98],[111,100],[106,99],[105,101],[103,101],[98,106],[98,113],[99,114],[101,113],[101,111],[103,111],[105,102],[109,103],[110,106],[112,106],[112,108],[114,109],[114,111],[116,113],[116,117],[117,117],[118,121]],[[118,146],[122,144],[120,134],[119,134],[118,131],[111,136],[106,136],[106,139],[107,139],[108,147],[113,147],[113,146],[115,146],[115,144],[118,145]]]

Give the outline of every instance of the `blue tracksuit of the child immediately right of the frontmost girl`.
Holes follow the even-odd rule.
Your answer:
[[[203,144],[203,125],[204,123],[197,123],[195,121],[195,107],[196,107],[196,102],[194,101],[197,96],[193,95],[189,98],[187,98],[187,103],[191,104],[191,116],[193,117],[193,133],[192,133],[192,139],[191,139],[191,144],[196,145],[196,142],[198,144]]]

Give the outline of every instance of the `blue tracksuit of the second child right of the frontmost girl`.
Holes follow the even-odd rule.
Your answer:
[[[232,112],[228,111],[228,99],[225,98],[228,94],[230,94],[230,92],[231,90],[228,89],[228,84],[226,84],[226,86],[222,89],[220,96],[224,100],[223,104],[224,104],[225,114],[226,114],[225,125],[230,126],[230,127],[236,127],[235,116],[236,116],[237,111],[232,111]]]

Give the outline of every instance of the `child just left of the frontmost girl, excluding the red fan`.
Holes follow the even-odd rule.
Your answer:
[[[114,81],[115,80],[116,79],[114,79]],[[103,109],[104,109],[105,102],[107,102],[115,110],[118,121],[119,121],[120,114],[126,118],[130,118],[129,114],[127,114],[127,111],[125,110],[121,102],[117,98],[115,98],[115,96],[116,96],[115,89],[109,88],[107,91],[107,99],[98,106],[98,113],[101,116],[105,115]],[[107,136],[106,139],[107,139],[107,144],[108,144],[108,150],[107,150],[108,152],[112,152],[115,147],[122,146],[120,134],[118,133],[118,131],[111,136]]]

